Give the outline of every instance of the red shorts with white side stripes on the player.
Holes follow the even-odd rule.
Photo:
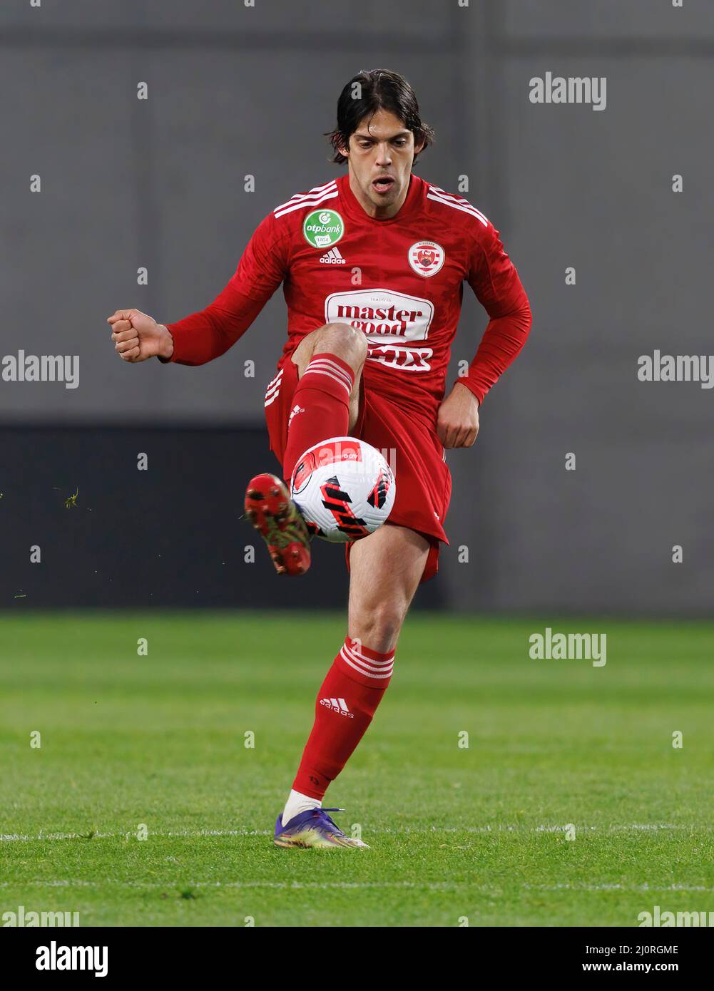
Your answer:
[[[288,444],[288,422],[297,387],[297,365],[290,355],[283,361],[266,392],[266,422],[271,450],[283,464]],[[441,541],[448,543],[443,521],[451,498],[451,474],[441,442],[428,422],[406,414],[391,399],[360,382],[359,415],[352,436],[382,451],[397,479],[397,497],[389,522],[416,530],[430,547],[421,581],[438,569]],[[346,545],[347,567],[349,548]]]

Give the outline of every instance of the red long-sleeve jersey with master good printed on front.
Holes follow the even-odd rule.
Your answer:
[[[499,232],[460,196],[412,175],[396,216],[368,216],[349,176],[297,193],[269,214],[235,274],[204,310],[169,324],[172,361],[201,365],[248,329],[282,283],[288,340],[326,323],[363,331],[365,387],[435,418],[468,282],[489,314],[468,375],[458,381],[483,401],[523,347],[531,309]]]

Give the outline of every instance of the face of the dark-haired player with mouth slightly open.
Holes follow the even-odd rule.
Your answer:
[[[405,201],[412,164],[421,146],[404,122],[387,110],[363,120],[345,150],[350,186],[371,216],[394,216]]]

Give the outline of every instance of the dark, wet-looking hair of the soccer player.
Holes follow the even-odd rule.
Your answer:
[[[378,110],[388,110],[402,121],[415,137],[415,145],[426,148],[433,142],[433,131],[424,124],[418,112],[415,91],[399,72],[373,68],[353,75],[337,100],[337,127],[326,135],[334,150],[332,162],[347,161],[340,148],[349,148],[350,137],[365,118],[371,119]],[[415,156],[416,162],[416,156]]]

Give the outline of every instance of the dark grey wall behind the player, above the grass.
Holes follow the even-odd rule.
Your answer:
[[[74,390],[0,381],[0,606],[344,603],[340,549],[288,584],[262,546],[244,561],[281,294],[200,369],[123,364],[105,320],[210,302],[263,216],[339,174],[321,135],[345,81],[382,66],[435,128],[419,173],[468,176],[535,314],[476,446],[447,456],[451,548],[417,606],[710,611],[714,390],[637,379],[655,348],[714,350],[709,0],[5,0],[0,49],[0,358],[80,369]],[[531,103],[546,71],[606,76],[607,109]],[[485,326],[464,303],[454,375]]]

